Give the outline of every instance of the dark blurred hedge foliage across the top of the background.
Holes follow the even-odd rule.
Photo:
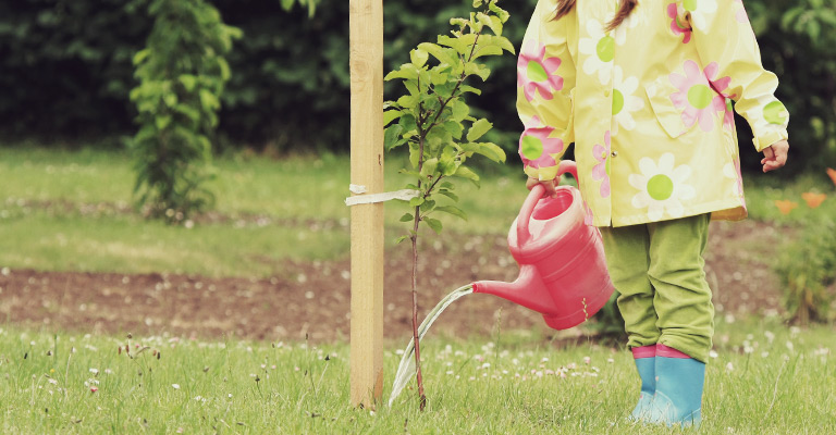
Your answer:
[[[509,2],[504,36],[519,45],[536,0]],[[0,4],[0,133],[58,138],[132,134],[131,58],[150,32],[148,0],[21,0]],[[385,63],[464,16],[470,1],[405,0],[384,8]],[[244,32],[230,53],[220,129],[229,144],[278,151],[345,151],[348,142],[348,2],[213,0]],[[789,171],[836,159],[836,0],[747,0],[763,63],[780,77],[791,114]],[[312,15],[311,15],[312,14]],[[494,72],[475,105],[491,113],[487,139],[515,151],[516,63]],[[388,95],[394,91],[386,88]],[[743,165],[757,169],[738,120]]]

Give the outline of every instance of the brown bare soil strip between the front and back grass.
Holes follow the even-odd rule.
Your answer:
[[[778,283],[771,270],[784,231],[746,221],[713,223],[706,273],[714,303],[726,315],[779,312]],[[433,239],[433,238],[431,238]],[[504,236],[445,235],[422,247],[420,318],[453,289],[478,279],[513,281],[517,265]],[[410,335],[410,252],[386,253],[384,327],[388,338]],[[271,278],[207,278],[174,274],[40,272],[2,270],[0,319],[47,331],[171,334],[223,339],[316,341],[349,335],[349,261],[288,262]],[[500,323],[501,318],[501,323]],[[468,296],[433,326],[435,333],[469,337],[507,330],[551,335],[540,315],[488,295]]]

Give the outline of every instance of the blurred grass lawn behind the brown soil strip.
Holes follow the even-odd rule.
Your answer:
[[[386,189],[405,184],[402,162],[390,158]],[[481,189],[459,183],[467,222],[444,216],[448,231],[504,234],[527,195],[517,167],[483,176]],[[182,272],[208,276],[270,276],[283,260],[348,256],[347,156],[293,157],[276,161],[233,156],[216,162],[220,221],[194,227],[143,220],[130,208],[133,174],[124,152],[0,148],[0,265],[59,271]],[[747,179],[755,220],[794,223],[815,213],[836,215],[836,195],[825,174],[782,184],[780,174]],[[816,210],[801,194],[831,198]],[[800,203],[783,215],[776,199]],[[390,245],[407,226],[405,206],[386,206]]]

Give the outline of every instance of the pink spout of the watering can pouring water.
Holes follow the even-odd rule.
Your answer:
[[[549,296],[549,289],[540,277],[537,268],[532,264],[522,264],[519,276],[513,283],[479,281],[472,285],[474,293],[499,296],[542,314],[550,314],[555,311],[554,302]]]

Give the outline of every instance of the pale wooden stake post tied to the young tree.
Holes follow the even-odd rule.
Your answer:
[[[383,191],[383,1],[349,0],[352,184]],[[383,391],[383,203],[352,208],[351,399]]]

